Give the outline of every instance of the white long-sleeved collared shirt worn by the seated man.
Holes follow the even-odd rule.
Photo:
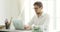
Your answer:
[[[48,31],[48,24],[49,24],[49,16],[48,14],[44,14],[42,13],[41,16],[39,16],[39,18],[37,16],[34,16],[32,18],[32,21],[29,22],[29,25],[39,25],[40,28],[44,31],[47,32]]]

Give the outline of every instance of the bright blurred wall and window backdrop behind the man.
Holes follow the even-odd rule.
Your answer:
[[[49,32],[60,31],[60,2],[59,0],[0,0],[0,23],[4,25],[4,18],[19,18],[27,24],[35,14],[33,3],[41,1],[44,13],[50,17]]]

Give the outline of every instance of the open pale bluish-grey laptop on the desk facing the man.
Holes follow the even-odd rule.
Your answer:
[[[12,21],[13,21],[13,25],[16,30],[23,30],[24,29],[23,21],[21,21],[19,19],[13,19]]]

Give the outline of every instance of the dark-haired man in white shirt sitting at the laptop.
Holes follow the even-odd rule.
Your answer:
[[[43,31],[48,31],[49,16],[46,13],[43,13],[43,5],[41,2],[34,3],[34,10],[36,15],[32,18],[32,21],[25,25],[25,29],[31,29],[32,25],[40,25],[40,28]]]

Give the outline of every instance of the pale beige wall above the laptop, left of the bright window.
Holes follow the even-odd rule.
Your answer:
[[[0,0],[0,17],[20,17],[23,13],[23,0]],[[23,16],[23,15],[22,15]]]

